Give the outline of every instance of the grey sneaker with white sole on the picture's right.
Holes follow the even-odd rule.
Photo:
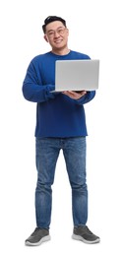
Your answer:
[[[100,238],[93,234],[87,225],[79,225],[78,227],[74,227],[72,238],[81,240],[85,243],[97,243],[100,241]]]

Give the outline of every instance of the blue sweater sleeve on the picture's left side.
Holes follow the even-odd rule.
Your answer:
[[[43,102],[55,97],[50,93],[53,90],[55,90],[54,85],[42,85],[41,79],[40,82],[38,81],[38,74],[31,62],[23,83],[24,97],[32,102]]]

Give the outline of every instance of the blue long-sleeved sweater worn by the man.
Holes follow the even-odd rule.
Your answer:
[[[55,89],[55,61],[90,59],[88,55],[70,51],[67,55],[47,52],[34,57],[23,83],[26,99],[36,102],[35,137],[68,138],[87,136],[84,104],[91,101],[95,92],[88,92],[80,99],[52,94]]]

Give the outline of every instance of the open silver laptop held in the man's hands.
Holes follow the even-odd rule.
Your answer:
[[[99,60],[56,60],[55,91],[95,91],[98,89]]]

